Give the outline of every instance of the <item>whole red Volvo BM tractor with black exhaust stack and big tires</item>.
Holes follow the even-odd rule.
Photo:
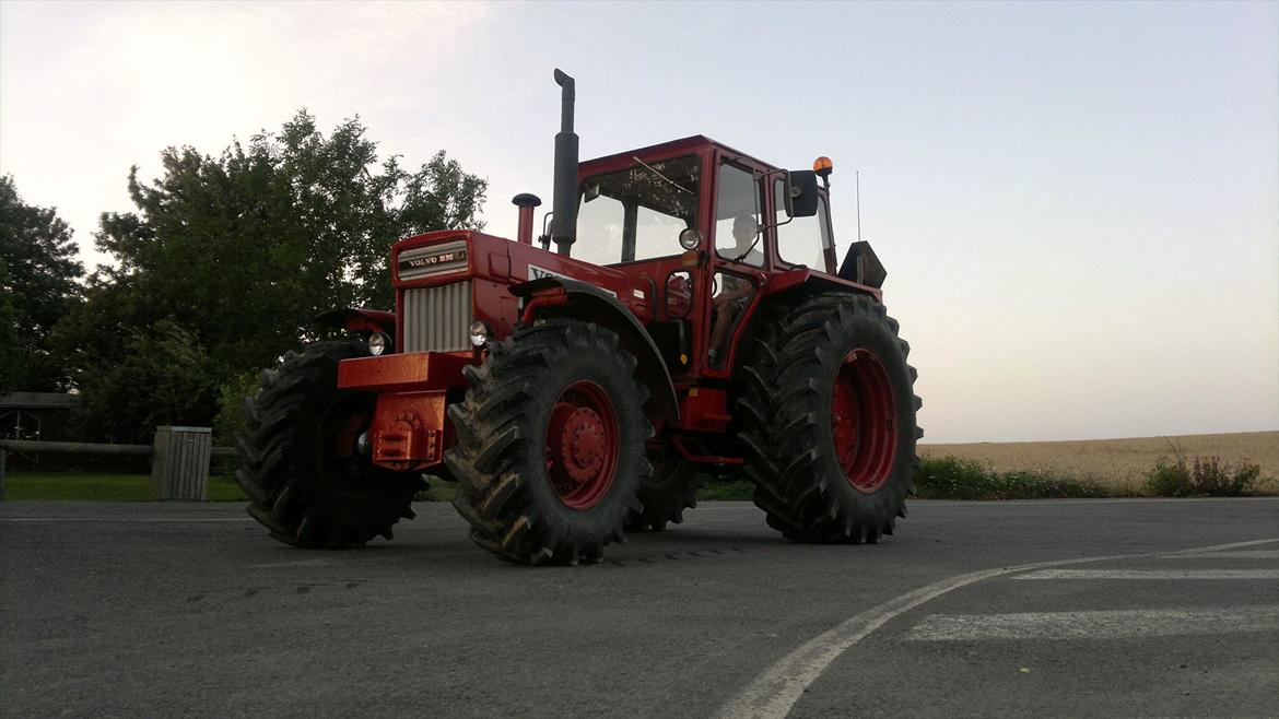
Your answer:
[[[916,372],[875,253],[853,243],[836,265],[830,161],[787,171],[694,136],[578,164],[574,83],[555,81],[541,247],[531,194],[517,242],[395,243],[394,313],[331,312],[361,339],[262,372],[238,438],[249,513],[292,545],[362,545],[435,475],[480,546],[576,564],[744,475],[787,537],[893,533]]]

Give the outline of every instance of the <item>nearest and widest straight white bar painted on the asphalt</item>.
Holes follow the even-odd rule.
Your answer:
[[[1279,632],[1279,604],[1214,609],[931,614],[909,641],[1124,640]]]

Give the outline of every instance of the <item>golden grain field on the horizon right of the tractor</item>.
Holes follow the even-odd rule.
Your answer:
[[[971,459],[998,472],[1035,471],[1095,480],[1113,487],[1136,487],[1142,482],[1142,473],[1151,470],[1160,457],[1170,457],[1174,446],[1186,454],[1187,461],[1220,457],[1221,462],[1230,464],[1243,461],[1260,464],[1264,484],[1259,489],[1266,494],[1279,491],[1279,482],[1275,481],[1279,477],[1279,431],[1087,441],[920,444],[920,454]]]

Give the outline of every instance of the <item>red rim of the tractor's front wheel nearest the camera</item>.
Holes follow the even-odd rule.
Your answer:
[[[618,471],[618,420],[604,388],[586,380],[560,393],[546,420],[546,476],[564,507],[590,509]]]

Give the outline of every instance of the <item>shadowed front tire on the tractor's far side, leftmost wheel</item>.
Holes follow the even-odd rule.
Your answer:
[[[263,370],[246,400],[237,434],[235,481],[248,513],[271,536],[294,546],[362,546],[412,518],[421,475],[359,459],[356,439],[368,427],[376,395],[338,389],[338,362],[367,354],[359,342],[321,342],[289,352]]]

